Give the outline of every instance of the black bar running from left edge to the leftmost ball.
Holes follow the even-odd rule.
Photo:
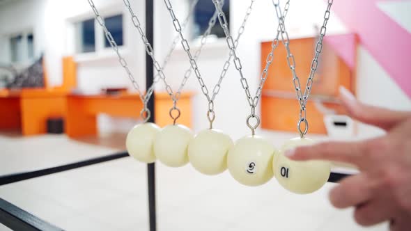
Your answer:
[[[41,170],[34,170],[34,171],[24,172],[24,173],[13,173],[9,175],[2,175],[0,176],[0,186],[4,184],[11,184],[14,182],[20,182],[22,180],[28,180],[28,179],[35,178],[35,177],[42,177],[42,176],[50,175],[53,173],[60,173],[60,172],[75,169],[75,168],[82,168],[84,166],[91,166],[93,164],[99,164],[105,161],[111,161],[111,160],[120,159],[123,157],[129,157],[128,153],[119,152],[116,154],[109,154],[104,157],[96,157],[93,159],[87,159],[85,161],[78,161],[72,164],[65,164],[62,166],[56,166],[52,168],[45,168]]]

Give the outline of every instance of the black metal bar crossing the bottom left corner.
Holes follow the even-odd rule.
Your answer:
[[[0,223],[6,225],[11,230],[27,230],[27,231],[61,231],[47,221],[29,214],[29,212],[20,209],[19,207],[0,198]]]

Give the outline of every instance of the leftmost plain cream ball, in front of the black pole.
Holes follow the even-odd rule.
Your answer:
[[[155,161],[153,141],[158,132],[160,132],[160,127],[153,122],[134,126],[125,139],[128,154],[138,161],[153,163]]]

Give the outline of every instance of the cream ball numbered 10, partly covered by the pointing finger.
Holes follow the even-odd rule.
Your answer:
[[[312,145],[309,138],[293,138],[286,141],[279,154],[274,157],[272,168],[279,184],[293,193],[307,194],[320,189],[329,178],[329,161],[293,161],[284,155],[286,150],[302,145]]]

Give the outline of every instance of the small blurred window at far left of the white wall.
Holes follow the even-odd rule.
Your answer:
[[[18,33],[10,37],[10,61],[22,63],[34,57],[33,33]]]

